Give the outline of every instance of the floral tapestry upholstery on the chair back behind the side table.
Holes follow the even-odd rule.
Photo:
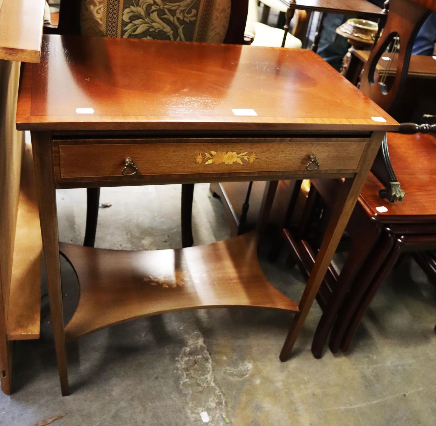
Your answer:
[[[83,35],[222,43],[231,0],[82,0]]]

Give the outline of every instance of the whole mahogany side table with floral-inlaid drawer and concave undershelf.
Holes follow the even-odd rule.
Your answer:
[[[44,36],[24,67],[17,128],[34,149],[62,395],[65,338],[170,311],[256,306],[295,312],[280,359],[307,317],[386,131],[398,123],[307,50]],[[345,178],[299,303],[267,281],[253,232],[180,250],[127,252],[58,242],[55,190]],[[80,299],[64,327],[59,250]]]

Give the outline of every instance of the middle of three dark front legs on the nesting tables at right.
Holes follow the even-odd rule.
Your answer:
[[[386,257],[388,257],[393,246],[394,235],[384,233],[377,241],[375,247],[371,250],[371,254],[366,257],[364,265],[357,268],[356,273],[359,273],[358,278],[354,280],[354,283],[351,283],[351,289],[342,303],[341,309],[337,313],[336,320],[330,333],[329,347],[333,353],[338,352],[341,348],[341,343],[345,332],[347,331],[347,326],[349,325],[359,302],[362,300],[365,291],[368,289],[371,281],[383,265]]]

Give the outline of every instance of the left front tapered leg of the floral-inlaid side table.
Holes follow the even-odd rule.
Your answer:
[[[58,217],[54,187],[50,132],[32,132],[32,149],[38,191],[41,234],[44,246],[51,325],[58,361],[62,396],[69,395],[64,317],[62,313],[61,267],[59,263]]]

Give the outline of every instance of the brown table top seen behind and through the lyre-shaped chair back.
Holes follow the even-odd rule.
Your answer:
[[[368,61],[368,57],[371,53],[371,51],[367,50],[351,49],[351,51],[364,63]],[[389,68],[388,75],[395,75],[398,64],[398,53],[394,54],[390,67],[388,67],[391,62],[389,57],[390,54],[387,53],[380,58],[377,64],[377,70],[384,71],[386,68]],[[436,59],[432,56],[412,55],[410,57],[408,75],[409,77],[436,78]]]

